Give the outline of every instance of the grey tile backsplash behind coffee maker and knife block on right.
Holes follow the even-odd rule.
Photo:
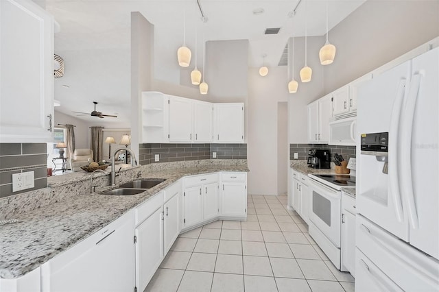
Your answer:
[[[335,146],[327,144],[290,144],[289,159],[294,160],[294,153],[298,154],[298,160],[308,158],[309,149],[329,149],[331,151],[331,161],[334,161],[334,154],[342,154],[344,160],[355,157],[355,146]]]

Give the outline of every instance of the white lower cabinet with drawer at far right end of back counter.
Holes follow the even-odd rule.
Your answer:
[[[222,173],[221,215],[247,217],[247,173]]]

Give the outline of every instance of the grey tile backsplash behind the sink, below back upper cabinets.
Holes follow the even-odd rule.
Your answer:
[[[139,163],[156,163],[156,154],[160,157],[158,162],[211,159],[213,152],[217,159],[247,159],[247,144],[145,143],[139,145]]]

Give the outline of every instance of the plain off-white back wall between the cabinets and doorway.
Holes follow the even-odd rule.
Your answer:
[[[278,102],[288,101],[287,67],[248,69],[248,193],[278,195]],[[285,186],[286,187],[286,186]]]

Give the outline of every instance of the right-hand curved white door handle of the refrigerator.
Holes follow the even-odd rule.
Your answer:
[[[418,214],[416,212],[416,205],[414,202],[414,191],[412,181],[412,128],[414,121],[414,110],[416,107],[416,100],[420,88],[420,80],[423,77],[420,73],[412,75],[410,82],[409,93],[405,100],[405,105],[402,114],[401,128],[401,156],[400,158],[409,158],[407,163],[400,165],[401,167],[401,194],[407,203],[408,217],[412,228],[417,229],[419,226]]]

